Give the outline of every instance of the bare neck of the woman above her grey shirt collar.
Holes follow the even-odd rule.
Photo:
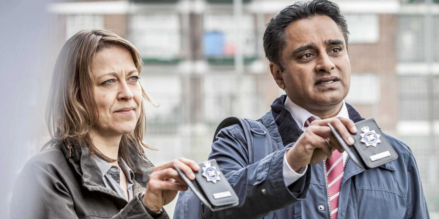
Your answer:
[[[95,129],[90,130],[90,139],[94,147],[102,154],[111,159],[117,159],[119,153],[119,144],[122,135],[103,135]]]

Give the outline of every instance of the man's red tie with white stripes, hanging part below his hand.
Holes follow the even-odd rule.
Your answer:
[[[343,154],[335,150],[332,157],[326,159],[327,187],[329,189],[329,202],[331,203],[331,217],[337,219],[338,196],[344,173]]]

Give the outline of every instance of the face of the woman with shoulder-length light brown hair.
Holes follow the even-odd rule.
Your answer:
[[[128,49],[101,49],[90,66],[99,120],[92,128],[100,135],[128,134],[140,117],[142,88],[139,72]]]

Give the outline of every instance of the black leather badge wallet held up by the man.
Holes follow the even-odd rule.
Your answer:
[[[351,134],[355,140],[353,146],[346,144],[338,131],[331,124],[328,125],[335,139],[348,152],[350,159],[363,170],[375,168],[398,159],[398,154],[381,132],[374,118],[362,120],[355,124],[358,132]]]

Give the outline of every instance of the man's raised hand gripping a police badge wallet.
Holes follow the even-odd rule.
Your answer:
[[[350,133],[355,134],[357,130],[352,120],[343,117],[314,120],[287,152],[288,164],[294,171],[299,172],[308,164],[322,162],[325,158],[331,157],[332,151],[336,149],[339,152],[344,151],[335,140],[328,123],[334,126],[348,145],[354,144]]]

